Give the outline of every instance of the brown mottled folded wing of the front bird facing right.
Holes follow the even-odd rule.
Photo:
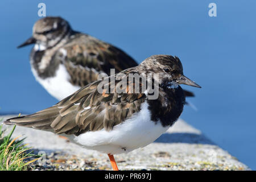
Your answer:
[[[115,82],[114,90],[120,81]],[[108,93],[104,87],[103,92],[99,93],[97,87],[101,83],[102,81],[93,82],[48,109],[26,117],[11,118],[5,123],[52,130],[57,134],[79,135],[101,129],[109,131],[137,113],[146,99],[144,94],[130,93],[130,85],[126,88],[127,93]],[[104,85],[111,83],[113,82],[109,81]]]

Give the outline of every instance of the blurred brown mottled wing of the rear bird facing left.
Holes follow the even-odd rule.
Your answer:
[[[138,65],[121,49],[108,43],[86,34],[72,36],[71,41],[56,53],[55,59],[64,63],[74,85],[85,86],[96,81],[99,73],[110,75],[111,68],[118,73]]]

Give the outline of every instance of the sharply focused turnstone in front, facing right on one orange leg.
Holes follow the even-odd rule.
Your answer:
[[[184,76],[178,57],[152,55],[136,67],[82,87],[56,105],[4,123],[68,137],[108,154],[117,171],[114,155],[147,146],[177,121],[185,104],[180,84],[201,88]]]

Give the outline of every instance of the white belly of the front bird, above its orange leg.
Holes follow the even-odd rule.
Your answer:
[[[89,131],[73,138],[85,148],[106,154],[121,154],[147,146],[168,130],[160,122],[151,121],[148,104],[142,104],[141,111],[125,122],[114,126],[112,131]]]

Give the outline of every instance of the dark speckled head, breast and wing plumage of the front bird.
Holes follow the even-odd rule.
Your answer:
[[[129,88],[135,82],[130,81],[127,81],[127,88],[125,88],[128,90],[127,93],[107,93],[106,90],[99,93],[97,87],[103,82],[100,80],[84,86],[48,109],[22,118],[12,118],[6,123],[52,130],[57,134],[80,135],[88,131],[102,129],[111,131],[114,126],[120,125],[126,119],[136,115],[141,110],[141,105],[147,102],[151,121],[160,122],[163,127],[166,127],[171,126],[176,121],[185,103],[185,96],[181,87],[171,88],[170,84],[174,84],[173,82],[179,84],[181,81],[181,84],[199,87],[190,80],[184,83],[182,65],[177,57],[156,55],[147,58],[137,67],[113,75],[112,77],[118,77],[118,79],[109,79],[108,88],[112,87],[114,81],[114,90],[116,90],[118,82],[129,73],[138,73],[139,75],[159,73],[159,83],[157,82],[159,97],[155,100],[148,100],[147,94],[144,92],[134,93],[134,90]],[[141,85],[142,82],[139,81],[139,85]],[[132,88],[135,89],[134,86]]]

